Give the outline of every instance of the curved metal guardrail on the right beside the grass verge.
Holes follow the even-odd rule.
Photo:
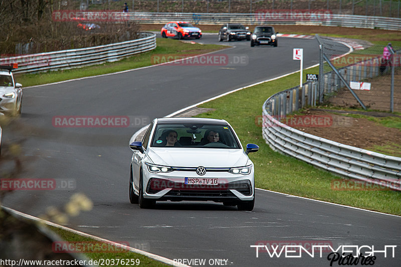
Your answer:
[[[369,62],[373,62],[369,66]],[[340,70],[348,80],[361,80],[379,75],[379,58],[359,62]],[[341,87],[341,81],[324,74],[325,92]],[[331,82],[328,82],[331,81]],[[269,97],[262,107],[262,136],[275,150],[305,161],[340,176],[401,191],[401,158],[355,148],[310,135],[279,120],[287,114],[318,101],[317,82],[305,83]]]

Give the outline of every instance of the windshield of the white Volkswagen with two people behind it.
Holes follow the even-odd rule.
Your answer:
[[[229,125],[220,124],[157,124],[152,147],[191,147],[240,149]]]

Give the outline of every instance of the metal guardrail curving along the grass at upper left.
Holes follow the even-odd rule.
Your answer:
[[[14,73],[65,70],[118,61],[124,57],[156,48],[156,35],[140,33],[140,39],[81,49],[55,51],[1,58],[0,65],[18,63]]]

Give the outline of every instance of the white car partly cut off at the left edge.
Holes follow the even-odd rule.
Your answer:
[[[9,114],[21,114],[22,109],[22,84],[16,83],[13,67],[0,66],[0,112]]]

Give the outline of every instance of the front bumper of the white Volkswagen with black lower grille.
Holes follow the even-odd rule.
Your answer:
[[[218,179],[214,185],[185,184],[185,178],[199,180]],[[192,171],[173,171],[170,173],[150,173],[143,171],[145,186],[144,198],[157,201],[249,201],[254,199],[254,171],[248,175],[231,174],[227,171],[207,172],[199,176]]]

